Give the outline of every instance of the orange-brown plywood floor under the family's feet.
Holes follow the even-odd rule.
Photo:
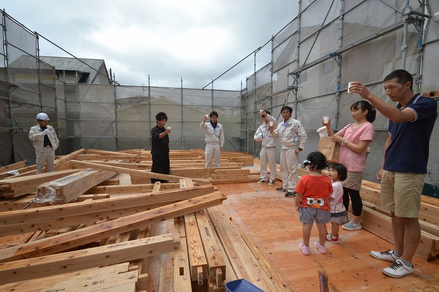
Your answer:
[[[426,262],[414,257],[415,274],[394,279],[381,273],[390,262],[375,259],[369,250],[392,249],[393,245],[362,229],[340,228],[338,244],[327,243],[322,255],[311,246],[309,256],[298,248],[302,223],[294,198],[267,183],[217,185],[227,195],[224,206],[242,232],[251,235],[285,281],[297,292],[319,291],[318,270],[329,277],[329,291],[439,291],[439,260]],[[328,226],[330,226],[328,224]],[[314,225],[310,242],[318,240]]]

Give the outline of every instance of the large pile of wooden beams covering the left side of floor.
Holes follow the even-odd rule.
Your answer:
[[[290,291],[228,212],[212,209],[225,199],[212,182],[259,179],[242,168],[251,155],[225,151],[220,168],[205,169],[204,150],[172,151],[170,175],[150,172],[150,158],[142,149],[81,149],[57,157],[53,173],[2,167],[0,291],[152,291],[149,259],[163,255],[174,257],[175,292],[225,291],[242,277],[264,291]],[[48,190],[56,205],[28,204]],[[157,234],[163,221],[173,233]],[[159,291],[167,290],[163,279],[160,269]]]

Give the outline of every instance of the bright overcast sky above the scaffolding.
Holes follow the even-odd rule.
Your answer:
[[[297,0],[3,0],[1,9],[79,58],[103,59],[122,85],[202,88],[298,14]],[[258,54],[270,62],[271,44]],[[69,56],[40,40],[40,55]],[[253,55],[214,82],[240,90]],[[212,88],[211,85],[207,87]]]

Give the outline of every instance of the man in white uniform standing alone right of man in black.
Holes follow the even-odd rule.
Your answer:
[[[210,113],[210,122],[207,122],[207,115],[204,116],[200,124],[200,129],[206,131],[205,159],[206,168],[212,167],[212,159],[214,167],[220,167],[220,151],[224,146],[224,130],[222,125],[218,123],[218,112],[213,110]]]

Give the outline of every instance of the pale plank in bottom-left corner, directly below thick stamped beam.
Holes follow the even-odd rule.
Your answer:
[[[58,274],[53,276],[29,279],[9,283],[0,286],[1,291],[29,291],[31,289],[43,289],[55,285],[76,283],[85,280],[96,279],[107,275],[116,275],[128,271],[128,263],[120,263],[106,267],[90,268],[70,273]]]

